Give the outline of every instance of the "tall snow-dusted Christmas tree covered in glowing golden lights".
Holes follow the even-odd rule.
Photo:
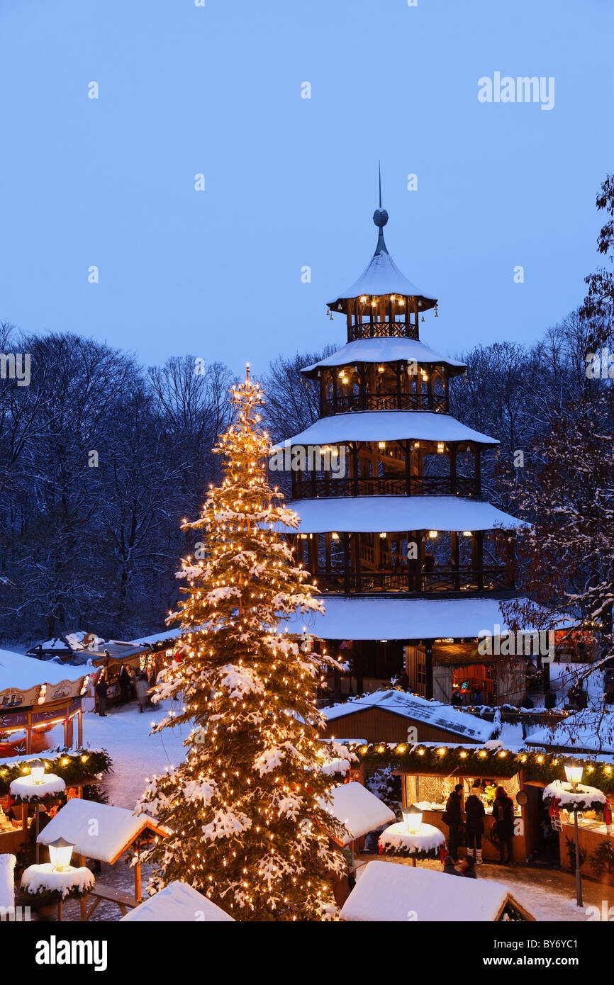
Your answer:
[[[177,574],[186,586],[169,621],[183,629],[181,660],[157,695],[182,710],[154,731],[191,732],[185,760],[149,781],[139,804],[172,832],[144,857],[156,865],[154,888],[184,880],[239,920],[325,919],[344,872],[330,835],[343,828],[326,810],[334,783],[322,771],[315,695],[334,662],[307,636],[280,631],[284,616],[321,603],[276,529],[299,520],[267,482],[262,391],[247,376],[233,400],[236,424],[214,449],[222,485],[183,523],[200,546]]]

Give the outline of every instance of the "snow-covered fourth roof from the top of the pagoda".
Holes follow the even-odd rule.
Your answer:
[[[331,483],[334,480],[331,479]],[[302,534],[384,533],[399,530],[512,529],[521,520],[482,499],[453,495],[366,495],[323,499],[297,499],[289,503],[301,517]],[[294,533],[283,527],[284,533]]]

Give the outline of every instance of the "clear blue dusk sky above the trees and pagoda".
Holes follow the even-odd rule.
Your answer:
[[[610,0],[0,0],[0,318],[144,364],[341,345],[380,158],[425,341],[530,342],[599,262],[612,36]],[[554,77],[554,108],[479,102],[497,71]]]

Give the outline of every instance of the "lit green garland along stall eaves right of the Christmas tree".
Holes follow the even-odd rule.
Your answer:
[[[365,766],[408,769],[411,772],[443,773],[450,775],[510,777],[520,769],[529,780],[545,784],[554,779],[565,780],[565,763],[580,762],[591,785],[603,793],[614,794],[614,765],[594,759],[536,750],[512,753],[500,746],[486,749],[476,746],[430,746],[411,743],[347,743]]]

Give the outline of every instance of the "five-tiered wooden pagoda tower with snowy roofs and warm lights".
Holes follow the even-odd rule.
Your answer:
[[[301,526],[289,536],[326,608],[307,628],[349,667],[337,697],[405,673],[425,697],[458,690],[466,703],[480,689],[484,703],[516,703],[523,665],[504,671],[477,650],[503,623],[499,600],[515,594],[502,534],[519,521],[482,496],[480,457],[499,442],[450,415],[466,367],[420,341],[438,300],[392,260],[387,222],[380,192],[375,253],[328,304],[345,316],[347,344],[302,370],[319,420],[285,442],[305,464],[292,472]]]

